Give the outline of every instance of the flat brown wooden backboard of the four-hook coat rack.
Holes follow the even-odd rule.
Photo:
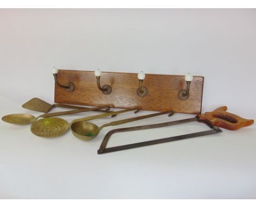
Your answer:
[[[55,84],[55,102],[73,105],[109,105],[115,108],[140,106],[146,111],[168,111],[177,113],[201,113],[203,77],[194,76],[188,100],[179,100],[178,91],[186,88],[184,76],[146,74],[143,86],[148,95],[139,97],[137,74],[102,72],[101,85],[109,84],[112,93],[104,95],[96,84],[93,71],[59,70],[57,78],[61,84],[72,82],[74,91],[68,92]]]

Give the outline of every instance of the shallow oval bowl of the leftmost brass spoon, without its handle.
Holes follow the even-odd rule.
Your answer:
[[[10,124],[27,125],[36,120],[36,117],[30,114],[10,114],[2,117],[2,120]]]

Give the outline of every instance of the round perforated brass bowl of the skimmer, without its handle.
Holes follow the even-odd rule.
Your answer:
[[[65,133],[68,128],[69,124],[66,120],[50,117],[35,121],[30,130],[39,137],[57,137]]]

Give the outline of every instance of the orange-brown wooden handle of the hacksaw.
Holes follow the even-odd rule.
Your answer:
[[[196,118],[199,121],[206,121],[212,126],[218,126],[228,130],[238,130],[241,127],[250,126],[254,123],[252,119],[244,119],[238,115],[226,112],[227,109],[228,107],[222,106],[213,112],[199,114]]]

